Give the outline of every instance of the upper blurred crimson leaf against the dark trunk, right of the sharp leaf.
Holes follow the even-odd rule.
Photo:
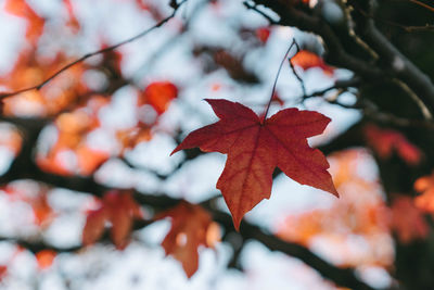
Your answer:
[[[381,159],[388,159],[396,152],[407,164],[416,165],[421,161],[422,153],[399,131],[382,129],[373,124],[363,128],[365,138]]]

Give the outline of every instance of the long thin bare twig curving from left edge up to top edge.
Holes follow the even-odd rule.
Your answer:
[[[116,43],[116,45],[111,46],[111,47],[107,47],[107,48],[104,48],[104,49],[101,49],[101,50],[97,50],[97,51],[87,53],[87,54],[82,55],[81,58],[79,58],[79,59],[77,59],[77,60],[75,60],[75,61],[73,61],[73,62],[71,62],[71,63],[68,63],[68,64],[66,64],[66,65],[63,66],[61,70],[59,70],[58,72],[55,72],[54,74],[52,74],[49,78],[44,79],[42,83],[39,83],[38,85],[31,86],[31,87],[27,87],[27,88],[24,88],[24,89],[21,89],[21,90],[16,90],[16,91],[13,91],[13,92],[0,93],[0,100],[1,100],[1,99],[4,99],[4,98],[8,98],[8,97],[11,97],[11,96],[15,96],[15,94],[25,92],[25,91],[29,91],[29,90],[40,90],[43,86],[46,86],[48,83],[50,83],[53,78],[55,78],[56,76],[59,76],[59,75],[62,74],[63,72],[67,71],[69,67],[72,67],[72,66],[74,66],[74,65],[76,65],[76,64],[78,64],[78,63],[81,63],[81,62],[86,61],[87,59],[89,59],[89,58],[91,58],[91,56],[94,56],[94,55],[98,55],[98,54],[102,54],[102,53],[105,53],[105,52],[115,50],[115,49],[117,49],[117,48],[119,48],[119,47],[122,47],[122,46],[124,46],[124,45],[126,45],[126,43],[132,42],[132,41],[135,41],[135,40],[137,40],[137,39],[139,39],[139,38],[141,38],[141,37],[143,37],[143,36],[145,36],[146,34],[149,34],[149,33],[151,33],[152,30],[154,30],[154,29],[156,29],[156,28],[163,26],[166,22],[168,22],[169,20],[171,20],[173,17],[175,17],[175,15],[176,15],[178,9],[179,9],[183,3],[186,3],[187,1],[188,1],[188,0],[183,0],[183,1],[181,1],[179,4],[174,5],[174,9],[175,9],[175,10],[174,10],[174,12],[173,12],[169,16],[167,16],[167,17],[164,18],[164,20],[162,20],[161,22],[158,22],[158,23],[155,24],[154,26],[152,26],[152,27],[150,27],[150,28],[148,28],[148,29],[141,31],[140,34],[138,34],[138,35],[136,35],[136,36],[133,36],[133,37],[130,37],[130,38],[128,38],[128,39],[125,39],[125,40],[123,40],[123,41],[120,41],[120,42],[118,42],[118,43]]]

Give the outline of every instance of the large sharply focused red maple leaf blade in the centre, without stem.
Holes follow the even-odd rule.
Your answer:
[[[261,121],[251,109],[227,100],[206,100],[219,122],[191,133],[171,152],[199,147],[228,154],[217,181],[238,229],[244,214],[269,199],[279,167],[302,185],[337,196],[324,155],[306,138],[321,134],[330,118],[311,111],[285,109]]]

